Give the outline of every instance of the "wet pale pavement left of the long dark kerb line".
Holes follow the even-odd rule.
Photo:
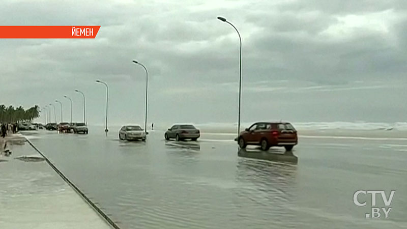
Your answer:
[[[111,228],[24,139],[0,156],[0,228]]]

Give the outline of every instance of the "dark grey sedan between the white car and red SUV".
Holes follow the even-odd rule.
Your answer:
[[[164,138],[166,140],[175,138],[177,141],[184,139],[191,139],[193,141],[196,141],[196,139],[198,139],[199,137],[199,130],[190,124],[173,125],[164,134]]]

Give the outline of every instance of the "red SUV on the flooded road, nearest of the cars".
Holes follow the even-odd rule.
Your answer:
[[[261,150],[269,150],[270,147],[284,147],[290,151],[298,143],[297,130],[290,123],[254,123],[238,137],[240,148],[247,145],[260,146]]]

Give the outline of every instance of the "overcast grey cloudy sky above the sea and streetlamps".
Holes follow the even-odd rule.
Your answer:
[[[405,1],[0,2],[2,25],[101,25],[96,39],[0,40],[0,104],[64,104],[82,120],[236,122],[242,35],[242,121],[398,122],[407,113]],[[60,117],[59,105],[57,118]],[[41,119],[43,120],[43,119]]]

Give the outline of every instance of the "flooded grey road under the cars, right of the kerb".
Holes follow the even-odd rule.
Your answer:
[[[239,151],[228,136],[163,134],[29,138],[122,228],[407,228],[405,140],[300,137],[290,155]],[[396,190],[389,219],[365,219],[370,201],[353,202],[360,189]]]

